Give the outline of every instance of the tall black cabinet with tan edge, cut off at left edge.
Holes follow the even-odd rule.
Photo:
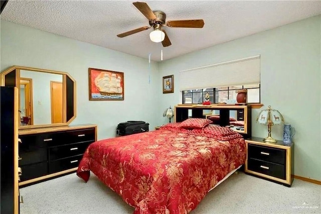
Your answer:
[[[18,88],[0,87],[1,213],[19,213]]]

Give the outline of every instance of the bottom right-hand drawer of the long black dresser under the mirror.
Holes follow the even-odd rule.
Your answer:
[[[64,158],[49,162],[49,173],[55,173],[77,167],[83,155]]]

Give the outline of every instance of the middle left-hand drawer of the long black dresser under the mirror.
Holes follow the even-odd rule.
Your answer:
[[[48,160],[48,149],[42,148],[29,152],[20,151],[19,156],[21,157],[21,160],[19,161],[20,166],[44,162]]]

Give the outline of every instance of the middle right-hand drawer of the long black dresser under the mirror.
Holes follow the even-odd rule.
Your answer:
[[[92,141],[84,143],[69,144],[65,146],[56,146],[49,148],[49,160],[57,160],[75,155],[81,155],[85,152]]]

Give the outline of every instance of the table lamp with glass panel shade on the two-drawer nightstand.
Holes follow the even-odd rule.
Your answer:
[[[256,118],[256,122],[263,124],[268,128],[268,136],[263,139],[263,141],[268,143],[276,143],[276,140],[271,137],[271,128],[273,125],[280,125],[284,123],[283,116],[279,111],[271,109],[271,105],[268,106],[268,109],[262,110]]]

